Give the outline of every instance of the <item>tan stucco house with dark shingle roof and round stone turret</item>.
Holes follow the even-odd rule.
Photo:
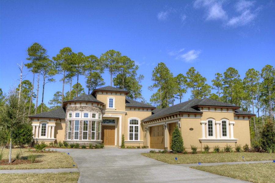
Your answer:
[[[171,149],[175,127],[184,145],[210,148],[226,144],[250,146],[249,119],[254,114],[209,98],[192,99],[158,109],[127,98],[129,92],[112,86],[65,101],[62,108],[29,116],[34,139],[45,143],[64,141]]]

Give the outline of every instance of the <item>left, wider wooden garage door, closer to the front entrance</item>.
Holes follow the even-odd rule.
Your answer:
[[[150,148],[164,149],[164,130],[162,125],[150,127]]]

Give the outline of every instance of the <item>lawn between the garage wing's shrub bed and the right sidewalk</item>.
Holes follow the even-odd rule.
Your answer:
[[[273,160],[275,158],[274,153],[269,154],[259,152],[228,152],[209,154],[142,153],[141,155],[169,164],[262,161]],[[175,160],[175,157],[177,157],[177,160]]]

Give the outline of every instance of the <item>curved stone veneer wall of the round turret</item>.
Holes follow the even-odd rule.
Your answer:
[[[80,111],[80,112],[84,112],[84,111],[88,111],[88,112],[101,112],[102,113],[102,108],[99,107],[95,107],[95,106],[90,106],[90,105],[70,105],[67,106],[66,108],[66,119],[65,119],[65,141],[68,139],[68,121],[70,121],[70,119],[67,118],[68,116],[68,112],[75,112],[75,111]],[[91,115],[91,113],[89,113],[89,115]],[[102,118],[102,117],[101,117]],[[74,119],[74,117],[72,117],[72,119]],[[85,119],[85,118],[79,118],[77,119],[79,120],[79,140],[74,140],[74,125],[75,125],[75,120],[71,120],[71,140],[74,142],[79,143],[79,145],[88,145],[90,143],[92,143],[93,145],[97,144],[96,142],[90,142],[90,141],[94,141],[91,140],[91,128],[92,128],[92,121],[96,121],[96,133],[95,133],[95,140],[100,140],[98,139],[98,125],[100,125],[100,135],[101,135],[101,129],[102,129],[102,123],[101,120],[93,120],[90,119]],[[83,128],[83,121],[88,120],[88,140],[82,140],[82,128]],[[78,142],[79,141],[79,142]],[[87,141],[87,142],[85,142]],[[73,142],[71,142],[73,143]]]

